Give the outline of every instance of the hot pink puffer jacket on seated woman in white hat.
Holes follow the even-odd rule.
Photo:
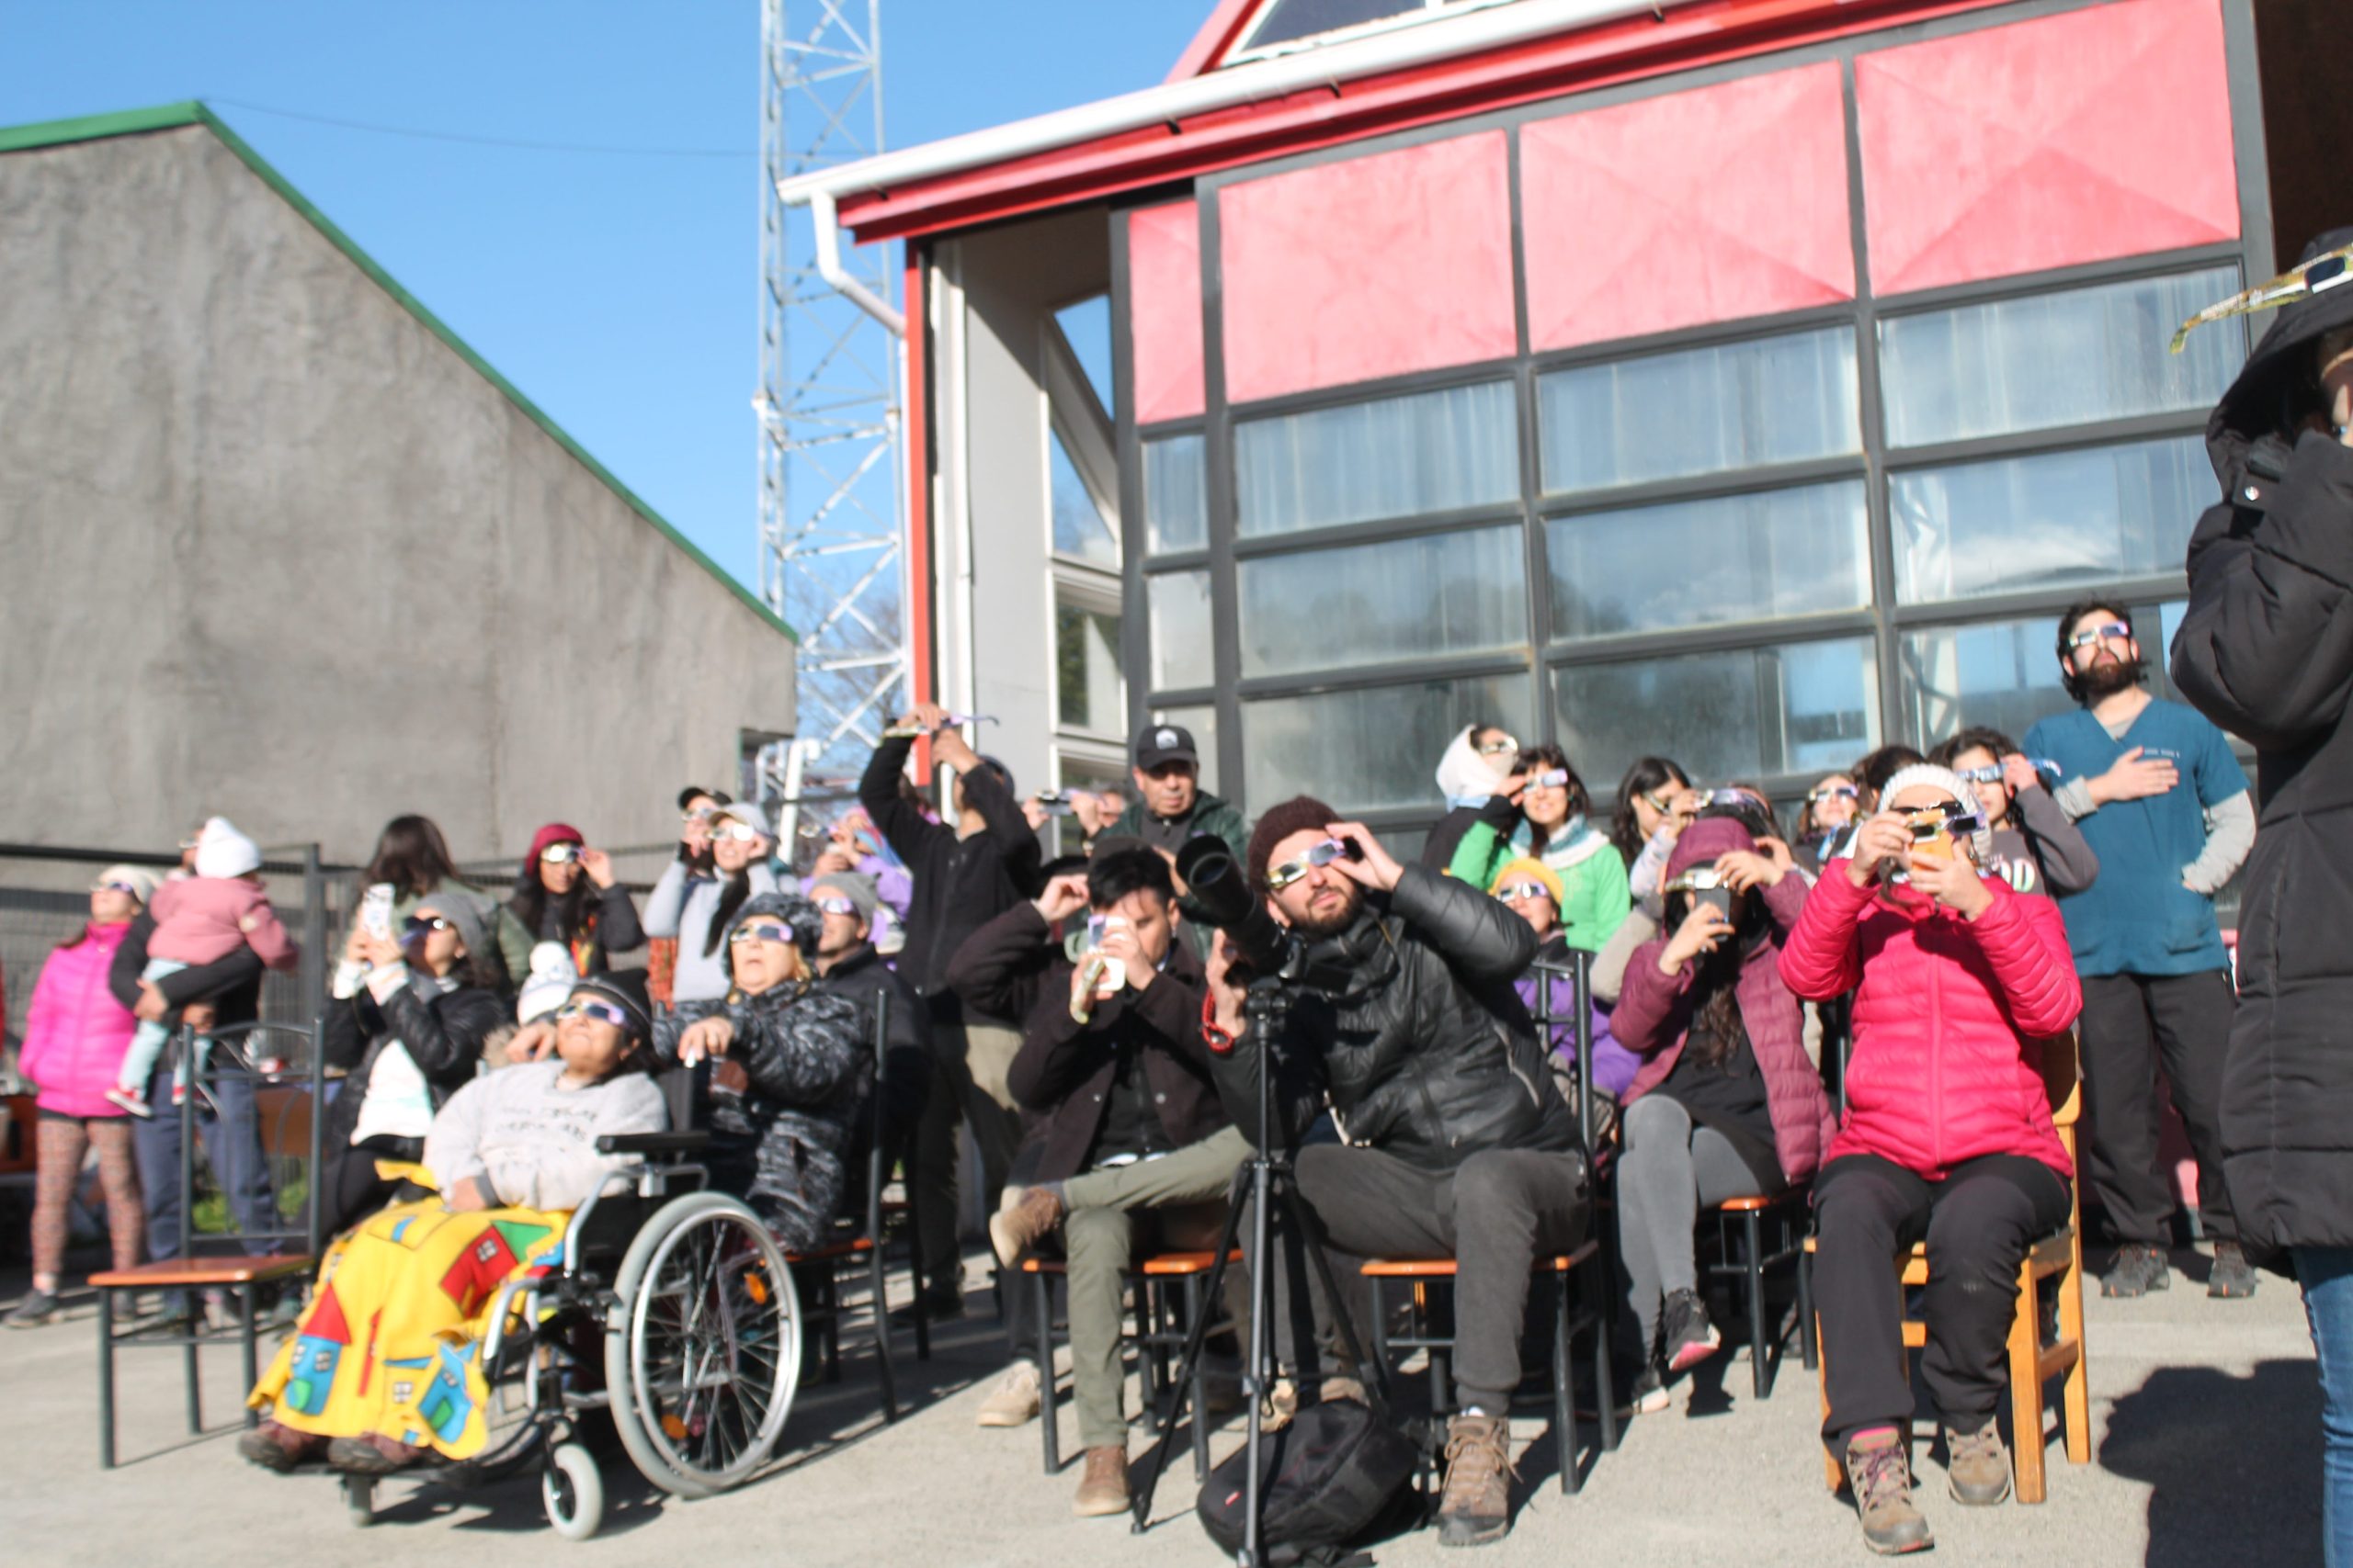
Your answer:
[[[2024,1154],[2073,1175],[2040,1044],[2082,1011],[2059,905],[1986,877],[1993,903],[1962,919],[1911,889],[1854,886],[1847,865],[1821,867],[1781,950],[1802,999],[1857,992],[1847,1124],[1826,1159],[1880,1154],[1944,1180],[1981,1154]]]

